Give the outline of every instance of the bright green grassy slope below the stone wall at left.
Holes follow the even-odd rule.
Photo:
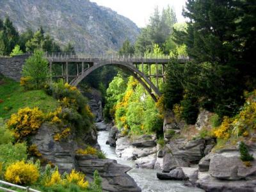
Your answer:
[[[43,90],[24,91],[19,83],[0,75],[0,117],[10,118],[20,108],[38,107],[44,112],[57,108],[56,99],[47,95]]]

